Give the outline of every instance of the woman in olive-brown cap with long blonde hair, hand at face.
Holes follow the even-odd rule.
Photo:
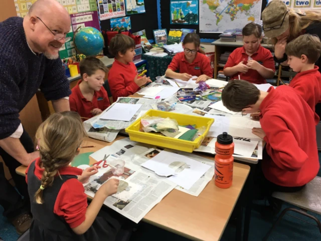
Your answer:
[[[285,46],[302,34],[317,35],[321,39],[321,13],[288,9],[279,0],[271,1],[262,12],[263,31],[274,45],[274,61],[286,65]],[[321,60],[315,65],[321,71]]]

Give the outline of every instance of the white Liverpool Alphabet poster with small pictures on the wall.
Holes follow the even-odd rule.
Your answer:
[[[98,0],[100,20],[113,19],[126,15],[125,0]]]

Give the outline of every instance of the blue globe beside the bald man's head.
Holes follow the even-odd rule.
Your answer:
[[[85,27],[74,36],[76,49],[86,56],[98,55],[104,48],[104,38],[95,28]]]

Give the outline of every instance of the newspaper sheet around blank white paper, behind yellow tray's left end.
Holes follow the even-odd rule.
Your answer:
[[[127,128],[129,125],[131,125],[137,118],[139,118],[141,115],[146,113],[146,111],[152,109],[151,104],[160,102],[161,100],[150,100],[145,98],[130,98],[130,97],[122,97],[118,98],[115,103],[126,103],[126,104],[141,104],[141,107],[136,112],[136,114],[131,118],[130,121],[117,121],[117,120],[103,120],[100,119],[101,116],[103,116],[115,103],[113,103],[111,106],[109,106],[106,110],[104,110],[100,115],[98,115],[97,118],[89,119],[91,126],[95,129],[97,128],[103,128],[106,127],[108,129],[114,129],[114,130],[121,130]]]

